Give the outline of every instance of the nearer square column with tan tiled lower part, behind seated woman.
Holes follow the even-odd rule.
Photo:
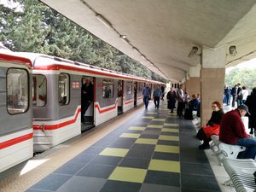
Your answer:
[[[201,61],[201,125],[206,125],[212,102],[223,101],[226,48],[203,47]]]

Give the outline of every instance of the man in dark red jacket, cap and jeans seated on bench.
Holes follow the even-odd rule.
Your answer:
[[[248,113],[247,106],[240,105],[235,110],[224,114],[220,122],[219,141],[246,147],[244,152],[238,154],[238,158],[254,160],[256,154],[256,140],[249,138],[241,121],[241,117],[246,113]]]

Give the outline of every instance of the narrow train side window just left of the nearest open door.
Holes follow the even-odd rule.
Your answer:
[[[61,73],[59,75],[59,104],[67,105],[69,102],[69,75]]]

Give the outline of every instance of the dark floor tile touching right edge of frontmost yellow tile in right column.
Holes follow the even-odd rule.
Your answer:
[[[213,176],[212,168],[208,163],[181,163],[181,172],[195,175]]]

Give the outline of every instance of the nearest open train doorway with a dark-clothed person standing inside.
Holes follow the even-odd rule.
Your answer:
[[[82,77],[81,83],[81,131],[94,127],[95,78]]]

